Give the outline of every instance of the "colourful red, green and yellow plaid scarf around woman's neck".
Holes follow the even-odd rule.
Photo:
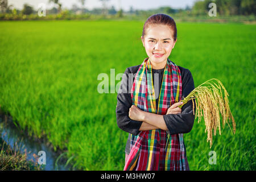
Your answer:
[[[159,95],[157,114],[166,114],[168,107],[181,100],[182,86],[179,68],[167,59]],[[131,88],[133,105],[143,111],[156,113],[152,67],[147,57],[139,67]],[[167,145],[167,146],[166,146]],[[124,170],[158,171],[185,170],[183,134],[168,137],[165,130],[140,131],[131,135],[130,154]]]

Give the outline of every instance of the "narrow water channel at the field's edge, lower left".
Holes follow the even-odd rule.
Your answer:
[[[39,158],[42,155],[38,152],[44,151],[46,154],[46,164],[41,164],[42,170],[75,170],[75,168],[67,163],[67,159],[64,159],[64,153],[57,154],[46,142],[35,141],[31,139],[31,137],[26,137],[24,133],[14,125],[11,117],[2,113],[0,114],[0,134],[1,139],[13,148],[13,150],[19,150],[22,154],[26,152],[27,160],[32,159],[35,161],[35,155],[38,155]]]

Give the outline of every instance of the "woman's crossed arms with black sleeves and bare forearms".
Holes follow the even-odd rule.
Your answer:
[[[131,69],[134,69],[134,71],[126,69],[126,74],[123,75],[121,83],[122,86],[120,86],[120,88],[127,88],[127,90],[130,90],[124,78],[128,77],[129,73],[135,72],[135,69],[137,70],[137,67]],[[186,97],[195,88],[191,72],[182,69],[181,79],[183,81],[182,94],[183,97]],[[172,106],[174,106],[175,104],[173,104]],[[138,114],[134,114],[134,117],[131,116],[133,113],[131,112],[131,110],[134,110],[136,106],[134,108],[133,107],[134,106],[132,105],[131,95],[129,93],[118,93],[117,107],[115,111],[117,117],[117,125],[120,129],[126,131],[127,133],[137,135],[139,131],[154,129],[165,129],[170,134],[189,133],[193,127],[195,115],[193,115],[192,101],[189,101],[182,107],[182,113],[179,107],[176,107],[177,110],[173,113],[171,112],[171,107],[169,107],[166,115],[144,112],[144,114],[139,114],[143,115],[141,119],[137,119]],[[139,111],[142,111],[139,108],[137,109]]]

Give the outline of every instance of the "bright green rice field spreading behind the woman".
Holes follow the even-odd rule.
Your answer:
[[[110,69],[117,76],[142,63],[147,57],[143,23],[0,22],[1,109],[30,136],[67,151],[77,169],[122,170],[128,133],[117,126],[117,92],[98,93],[97,77],[106,73],[110,78]],[[169,58],[191,71],[195,86],[220,80],[237,125],[235,135],[228,125],[221,135],[217,132],[209,148],[204,121],[195,119],[192,131],[184,134],[191,170],[256,169],[255,40],[255,24],[177,22]],[[216,152],[216,164],[209,164],[210,151]]]

